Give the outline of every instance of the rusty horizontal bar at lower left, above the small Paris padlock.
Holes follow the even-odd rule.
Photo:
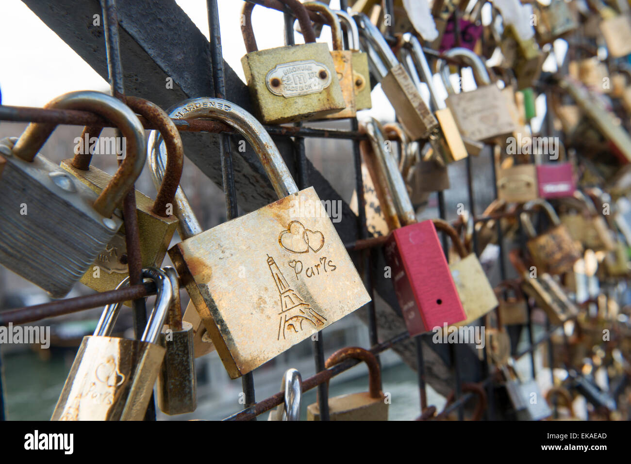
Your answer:
[[[38,320],[62,316],[64,314],[78,313],[79,311],[98,308],[110,303],[121,303],[130,299],[145,298],[156,294],[156,286],[153,282],[147,282],[118,290],[95,293],[75,298],[58,299],[50,303],[35,304],[0,313],[0,326],[13,324],[25,324]]]

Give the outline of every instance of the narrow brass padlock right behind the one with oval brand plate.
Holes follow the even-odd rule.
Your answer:
[[[344,49],[338,16],[324,3],[312,1],[303,4],[307,10],[319,13],[331,26],[331,37],[333,38],[331,57],[345,102],[343,110],[326,115],[322,119],[354,118],[357,115],[357,107],[355,105],[355,81],[353,80],[353,52]]]

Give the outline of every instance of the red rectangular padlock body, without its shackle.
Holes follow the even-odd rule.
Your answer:
[[[432,221],[395,229],[384,251],[410,335],[466,318]]]

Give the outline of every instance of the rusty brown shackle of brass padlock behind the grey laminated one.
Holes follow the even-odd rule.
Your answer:
[[[180,132],[175,127],[173,120],[155,103],[137,96],[127,96],[127,105],[158,128],[167,146],[166,171],[160,187],[156,187],[158,194],[151,207],[151,212],[161,217],[168,217],[167,204],[173,204],[184,168],[182,137],[180,137]]]

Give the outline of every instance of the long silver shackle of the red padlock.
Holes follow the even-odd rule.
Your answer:
[[[376,119],[370,118],[370,120],[365,122],[364,127],[372,146],[372,153],[377,157],[378,165],[382,173],[384,173],[388,187],[392,192],[394,206],[401,224],[404,226],[415,224],[416,214],[408,195],[408,189],[405,187],[405,182],[397,168],[394,156],[386,153],[386,138],[384,137],[381,124]]]

